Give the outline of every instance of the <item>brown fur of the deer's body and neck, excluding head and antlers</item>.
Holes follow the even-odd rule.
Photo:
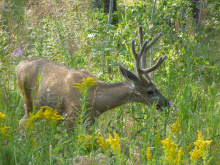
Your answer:
[[[36,103],[36,111],[42,106],[56,109],[60,115],[67,114],[67,119],[73,119],[80,113],[78,89],[74,83],[81,83],[82,78],[94,77],[86,70],[74,70],[44,58],[31,58],[20,62],[17,67],[18,85],[22,91],[26,114],[21,119],[24,122],[33,111],[33,102]],[[95,78],[95,77],[94,77]],[[90,118],[94,122],[95,117],[105,111],[125,104],[127,102],[143,102],[152,105],[153,102],[143,98],[143,94],[137,95],[133,91],[132,82],[107,84],[95,79],[98,86],[89,90],[88,108],[91,108]],[[146,86],[146,90],[152,88]],[[141,89],[143,90],[143,89]],[[165,99],[165,98],[164,98]],[[147,102],[146,102],[147,100]],[[163,105],[164,103],[160,103]]]

